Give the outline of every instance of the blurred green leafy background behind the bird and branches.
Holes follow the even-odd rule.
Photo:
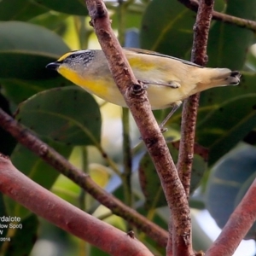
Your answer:
[[[255,17],[255,1],[215,2],[215,9],[220,12],[250,20]],[[177,0],[121,0],[106,4],[121,44],[189,60],[195,13]],[[99,48],[84,1],[2,0],[0,20],[0,107],[14,113],[16,119],[89,173],[102,188],[167,229],[169,212],[160,182],[131,116],[123,112],[126,128],[130,119],[130,156],[129,150],[122,149],[121,109],[45,69],[46,64],[71,49]],[[242,78],[238,86],[201,93],[196,130],[198,150],[189,201],[194,209],[196,250],[205,250],[211,243],[197,223],[196,212],[207,209],[218,226],[223,227],[256,175],[254,40],[253,31],[212,21],[207,66],[240,70]],[[155,111],[155,117],[160,122],[168,111]],[[175,160],[177,143],[173,142],[179,139],[180,121],[181,109],[172,116],[164,134]],[[127,148],[127,140],[125,143]],[[202,155],[201,150],[208,153]],[[73,182],[16,144],[1,128],[0,152],[10,155],[21,172],[73,205],[119,229],[129,227]],[[107,160],[103,153],[108,154]],[[131,189],[129,179],[125,178],[129,172]],[[3,195],[0,204],[1,216],[20,216],[23,223],[22,230],[4,230],[12,241],[1,243],[1,255],[106,255]],[[255,237],[255,231],[253,226],[247,239]],[[155,255],[163,255],[164,248],[156,247],[139,230],[135,232]]]

